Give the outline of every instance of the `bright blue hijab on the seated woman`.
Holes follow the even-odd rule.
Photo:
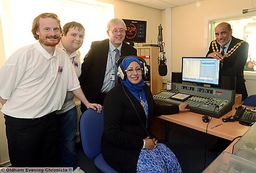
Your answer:
[[[127,67],[131,64],[131,62],[136,61],[141,67],[141,62],[138,58],[130,56],[127,58],[124,58],[120,65],[123,66],[123,68],[126,70]],[[144,69],[143,69],[144,70]],[[143,86],[145,85],[143,79],[137,84],[133,84],[129,81],[128,77],[126,77],[125,80],[122,81],[122,83],[128,88],[128,90],[136,97],[136,99],[140,102],[141,99],[143,102],[146,102],[146,95],[143,90]],[[140,94],[141,94],[141,99],[140,99]]]

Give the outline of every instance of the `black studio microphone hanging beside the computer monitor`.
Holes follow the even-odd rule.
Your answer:
[[[162,42],[162,26],[158,26],[158,44],[160,47],[160,53],[158,58],[158,73],[160,76],[166,76],[167,75],[167,65],[166,65],[166,57],[165,52],[163,51],[164,48],[164,42]]]

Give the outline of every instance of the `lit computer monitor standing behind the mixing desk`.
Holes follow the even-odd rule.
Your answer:
[[[220,61],[206,57],[182,57],[182,81],[220,85]]]

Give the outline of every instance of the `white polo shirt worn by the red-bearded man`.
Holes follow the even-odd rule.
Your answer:
[[[50,55],[39,43],[14,52],[0,70],[1,112],[16,118],[37,118],[61,109],[67,91],[80,88],[65,51]]]

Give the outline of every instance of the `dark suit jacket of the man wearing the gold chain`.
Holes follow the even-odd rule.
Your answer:
[[[234,45],[236,45],[241,41],[243,40],[232,36],[232,40],[230,42],[228,51],[231,48],[233,48]],[[213,52],[212,42],[209,46],[209,51],[206,57],[209,55],[209,53]],[[217,43],[217,47],[220,50],[220,45],[218,43]],[[248,96],[247,90],[245,87],[245,80],[243,77],[244,65],[246,64],[246,61],[248,58],[248,48],[249,48],[249,44],[246,42],[243,42],[242,45],[240,45],[236,49],[236,51],[234,51],[229,57],[226,57],[223,59],[223,66],[221,68],[222,76],[236,76],[236,93],[242,94],[242,101]]]

